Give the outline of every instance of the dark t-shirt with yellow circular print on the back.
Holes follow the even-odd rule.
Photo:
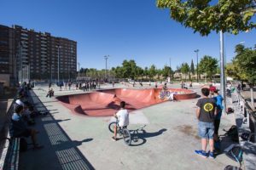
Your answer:
[[[212,98],[201,98],[196,104],[200,107],[200,122],[214,122],[215,101]]]

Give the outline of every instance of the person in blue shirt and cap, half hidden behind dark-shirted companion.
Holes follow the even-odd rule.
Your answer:
[[[214,101],[216,103],[217,106],[217,115],[215,116],[214,119],[214,148],[216,150],[220,149],[220,140],[218,138],[218,128],[219,128],[219,124],[220,124],[220,119],[222,116],[222,111],[223,111],[223,97],[221,94],[218,94],[218,89],[213,91],[214,94]]]

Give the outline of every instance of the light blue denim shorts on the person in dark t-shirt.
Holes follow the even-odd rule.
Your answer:
[[[213,139],[214,123],[213,122],[198,122],[198,135],[202,139]]]

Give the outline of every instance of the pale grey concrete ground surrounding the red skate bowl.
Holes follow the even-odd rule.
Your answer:
[[[138,141],[127,146],[122,139],[111,140],[113,134],[108,131],[111,117],[74,115],[55,98],[46,98],[44,89],[47,88],[36,87],[32,92],[37,108],[50,111],[49,116],[37,118],[38,141],[44,144],[44,149],[21,153],[20,169],[224,169],[227,165],[238,166],[224,154],[214,160],[195,155],[194,150],[201,148],[195,118],[197,99],[165,102],[131,113],[131,133],[146,127],[138,130]],[[195,90],[198,91],[199,86]],[[228,129],[233,124],[234,115],[224,116],[220,134],[224,134],[223,128]],[[223,149],[229,144],[230,139],[224,138]]]

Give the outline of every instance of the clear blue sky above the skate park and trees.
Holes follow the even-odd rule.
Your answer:
[[[156,0],[0,0],[0,24],[20,25],[35,31],[47,31],[55,37],[78,42],[81,67],[108,68],[135,59],[137,65],[156,65],[172,69],[191,59],[210,55],[219,59],[219,35],[201,37],[169,17],[169,11],[156,8]],[[237,36],[225,34],[226,56],[230,61],[234,47],[245,42],[256,44],[256,31]]]

